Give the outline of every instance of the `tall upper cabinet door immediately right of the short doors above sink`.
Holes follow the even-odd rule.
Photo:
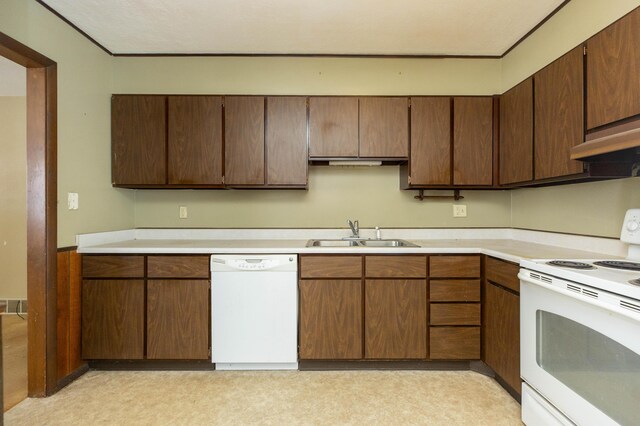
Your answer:
[[[451,184],[451,98],[411,98],[411,185]]]

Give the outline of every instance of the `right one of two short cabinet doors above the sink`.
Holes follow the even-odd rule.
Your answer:
[[[360,157],[408,157],[408,98],[360,98],[359,128]]]

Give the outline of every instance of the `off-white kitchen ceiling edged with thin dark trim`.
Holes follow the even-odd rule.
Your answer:
[[[500,56],[562,0],[38,0],[113,54]]]

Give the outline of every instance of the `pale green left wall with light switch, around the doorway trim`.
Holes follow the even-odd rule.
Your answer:
[[[111,187],[112,58],[35,0],[1,0],[0,31],[58,64],[58,246],[132,227],[134,193]],[[67,192],[79,210],[67,210]]]

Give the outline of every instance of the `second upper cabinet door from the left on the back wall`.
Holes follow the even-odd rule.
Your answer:
[[[222,97],[169,96],[170,184],[222,184]]]

